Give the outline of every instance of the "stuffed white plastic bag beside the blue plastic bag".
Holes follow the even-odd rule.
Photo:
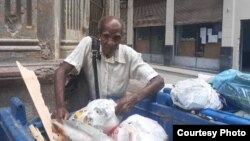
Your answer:
[[[186,79],[176,83],[171,91],[173,103],[186,110],[221,109],[219,94],[202,79]]]

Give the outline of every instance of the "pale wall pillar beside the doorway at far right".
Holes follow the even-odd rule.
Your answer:
[[[241,20],[250,19],[249,0],[224,0],[222,46],[233,48],[232,67],[239,69]]]

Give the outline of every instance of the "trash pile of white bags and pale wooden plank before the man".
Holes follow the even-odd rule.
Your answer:
[[[121,121],[115,114],[112,99],[96,99],[76,111],[69,120],[50,118],[42,97],[39,81],[32,70],[17,62],[22,78],[37,109],[46,137],[36,127],[32,135],[39,141],[167,141],[158,122],[140,115]]]

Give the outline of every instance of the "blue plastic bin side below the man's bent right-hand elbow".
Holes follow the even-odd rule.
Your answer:
[[[141,101],[126,117],[139,114],[157,121],[168,134],[168,141],[173,141],[173,125],[225,124],[219,121],[211,121],[174,107],[171,97],[167,93],[158,93],[156,102],[152,102],[151,99]]]

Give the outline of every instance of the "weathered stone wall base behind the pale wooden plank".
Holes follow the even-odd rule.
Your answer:
[[[53,88],[54,71],[57,65],[51,66],[29,66],[28,68],[34,70],[39,82],[41,84],[41,92],[45,104],[49,111],[55,110],[55,96]],[[29,92],[20,76],[20,72],[16,67],[9,67],[0,69],[0,107],[9,107],[10,99],[18,97],[21,99],[26,108],[28,119],[38,117],[37,110],[34,107]]]

